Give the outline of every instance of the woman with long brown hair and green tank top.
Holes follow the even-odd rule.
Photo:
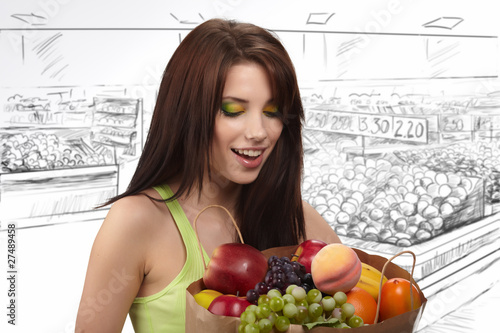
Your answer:
[[[339,242],[301,200],[303,110],[281,43],[251,24],[210,20],[179,45],[125,193],[92,248],[77,332],[182,332],[185,289],[202,277],[194,230],[226,207],[259,250]],[[230,217],[196,222],[205,259],[237,242]]]

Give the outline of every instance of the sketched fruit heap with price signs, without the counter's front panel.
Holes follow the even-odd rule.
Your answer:
[[[323,153],[306,165],[305,196],[339,234],[410,246],[500,210],[498,109],[410,110],[306,108]]]

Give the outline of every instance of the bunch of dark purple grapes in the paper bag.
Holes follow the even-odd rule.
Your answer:
[[[264,281],[255,285],[247,292],[247,301],[257,304],[260,295],[265,295],[271,289],[278,289],[286,293],[289,285],[297,285],[305,289],[306,293],[316,288],[311,273],[306,272],[304,265],[291,261],[288,257],[271,256],[267,261],[267,273]]]

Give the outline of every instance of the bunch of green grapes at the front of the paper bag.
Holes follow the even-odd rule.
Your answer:
[[[297,285],[288,286],[285,294],[271,289],[241,314],[238,332],[268,333],[273,328],[285,332],[291,324],[322,322],[337,328],[363,326],[363,319],[354,314],[354,306],[346,301],[343,292],[323,296],[318,289],[306,291]]]

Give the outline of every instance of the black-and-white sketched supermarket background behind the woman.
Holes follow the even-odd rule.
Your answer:
[[[296,66],[304,199],[348,245],[415,252],[421,332],[470,331],[467,305],[499,282],[494,2],[289,3],[1,1],[2,240],[12,221],[19,237],[99,224],[107,208],[93,207],[126,188],[169,56],[230,17],[273,30]]]

